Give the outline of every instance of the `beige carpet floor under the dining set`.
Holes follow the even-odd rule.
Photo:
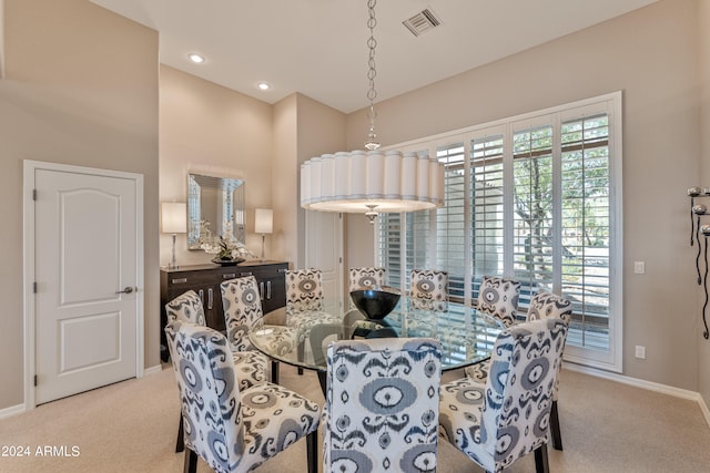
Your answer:
[[[313,373],[282,364],[282,383],[320,403]],[[445,379],[460,372],[446,373]],[[657,392],[565,370],[560,388],[565,451],[549,449],[552,472],[709,472],[710,429],[700,408]],[[40,405],[0,421],[0,472],[181,472],[173,453],[179,400],[172,370]],[[45,452],[53,456],[39,456]],[[71,456],[73,455],[73,456]],[[439,473],[480,472],[449,444],[439,444]],[[305,442],[257,472],[305,472]],[[200,472],[210,469],[201,462]],[[534,472],[532,455],[508,472]]]

